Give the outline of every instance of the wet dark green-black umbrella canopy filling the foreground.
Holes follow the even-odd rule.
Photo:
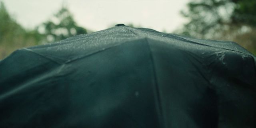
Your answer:
[[[255,128],[255,56],[118,24],[0,62],[0,127]]]

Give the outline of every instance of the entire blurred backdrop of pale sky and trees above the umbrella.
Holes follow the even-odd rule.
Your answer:
[[[120,23],[234,41],[256,55],[256,0],[0,0],[0,60]]]

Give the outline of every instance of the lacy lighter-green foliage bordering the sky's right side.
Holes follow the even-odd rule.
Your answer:
[[[181,33],[207,38],[208,33],[212,33],[228,22],[232,5],[228,5],[228,0],[194,0],[187,6],[188,10],[181,13],[190,22],[184,25]]]

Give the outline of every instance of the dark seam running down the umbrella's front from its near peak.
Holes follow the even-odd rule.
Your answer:
[[[147,42],[147,45],[148,45],[148,50],[150,52],[150,60],[152,62],[152,69],[153,69],[153,74],[154,74],[154,84],[155,84],[155,93],[156,93],[156,102],[158,103],[157,104],[157,108],[158,108],[158,111],[160,112],[160,127],[162,126],[162,128],[165,128],[165,123],[164,123],[164,120],[162,119],[163,118],[163,110],[162,110],[162,101],[161,101],[161,98],[160,98],[160,88],[158,86],[158,80],[157,80],[157,76],[156,76],[156,70],[155,70],[155,63],[154,63],[154,58],[153,58],[153,55],[152,55],[152,50],[151,50],[151,47],[150,47],[150,44],[148,42],[148,38],[145,38],[146,42]]]

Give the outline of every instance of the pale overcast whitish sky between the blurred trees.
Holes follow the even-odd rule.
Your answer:
[[[99,31],[115,24],[134,24],[172,32],[186,22],[180,10],[189,0],[0,0],[25,28],[49,20],[63,3],[79,26]]]

